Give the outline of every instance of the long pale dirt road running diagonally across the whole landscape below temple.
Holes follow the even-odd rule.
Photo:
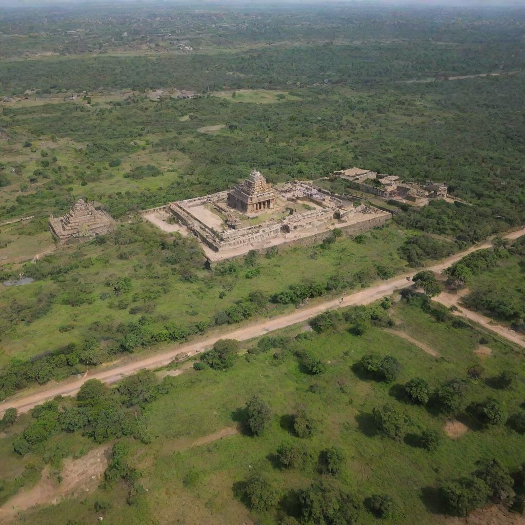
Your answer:
[[[512,232],[505,236],[507,239],[516,239],[521,235],[525,235],[525,228]],[[437,265],[428,267],[428,270],[440,272],[458,261],[461,257],[482,248],[489,248],[491,246],[490,241],[478,244],[470,247],[468,250],[461,251],[443,261]],[[217,333],[208,337],[202,341],[197,341],[187,344],[171,344],[168,345],[164,352],[151,355],[147,358],[139,359],[137,361],[131,361],[129,363],[118,364],[111,369],[99,370],[91,372],[80,379],[67,381],[53,388],[46,388],[29,395],[21,395],[19,397],[12,398],[5,401],[0,405],[0,415],[9,407],[14,407],[19,413],[27,412],[34,406],[43,403],[46,400],[52,399],[57,395],[74,395],[78,392],[82,383],[88,379],[99,379],[105,383],[115,383],[120,381],[122,377],[131,375],[139,370],[143,369],[156,369],[161,366],[166,366],[177,356],[192,356],[199,352],[203,352],[212,346],[218,339],[237,339],[239,341],[246,341],[260,335],[265,335],[268,332],[279,330],[280,328],[286,328],[293,324],[302,323],[317,316],[317,314],[326,310],[333,310],[335,308],[344,308],[347,306],[354,306],[356,304],[370,304],[371,302],[381,299],[382,297],[391,295],[395,290],[406,288],[412,285],[412,281],[409,278],[412,277],[414,271],[410,274],[404,274],[401,276],[388,279],[379,285],[366,288],[363,291],[352,293],[342,298],[329,299],[321,302],[316,302],[309,308],[301,308],[295,312],[287,313],[283,316],[279,316],[268,320],[258,320],[253,324],[244,325],[238,329],[229,329],[223,332]],[[341,300],[342,299],[342,300]]]

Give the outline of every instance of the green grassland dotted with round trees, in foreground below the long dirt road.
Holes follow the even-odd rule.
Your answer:
[[[437,486],[470,474],[480,459],[497,458],[511,469],[525,460],[522,436],[505,426],[481,430],[461,415],[466,404],[487,396],[505,403],[509,414],[518,411],[525,395],[522,379],[510,391],[496,390],[489,386],[488,380],[504,369],[516,370],[522,377],[525,373],[522,355],[488,336],[487,345],[492,353],[484,356],[482,363],[488,380],[468,381],[468,394],[458,411],[468,430],[453,440],[443,430],[448,416],[431,407],[426,409],[408,403],[397,384],[420,376],[434,388],[452,379],[464,379],[467,368],[479,362],[474,351],[480,338],[487,334],[469,327],[454,328],[451,320],[437,321],[421,310],[417,302],[397,303],[389,314],[396,320],[398,329],[439,351],[442,357],[423,352],[386,332],[381,325],[372,325],[364,334],[354,335],[348,330],[348,322],[340,318],[334,327],[321,334],[303,333],[281,348],[241,356],[226,372],[191,370],[176,378],[169,377],[166,379],[170,385],[168,393],[139,409],[153,436],[152,442],[144,445],[125,439],[131,447],[129,460],[140,470],[140,483],[148,489],[147,493],[128,505],[127,488],[121,482],[111,490],[98,489],[53,507],[28,511],[16,522],[45,524],[75,519],[88,523],[99,515],[93,510],[95,501],[105,500],[112,502],[104,518],[110,523],[138,524],[170,519],[211,524],[252,519],[269,525],[287,513],[296,513],[296,491],[306,488],[312,479],[325,477],[358,500],[372,493],[393,497],[397,510],[390,518],[383,519],[383,523],[444,523],[442,511],[436,510]],[[294,336],[299,332],[291,328],[280,334]],[[293,355],[297,350],[316,356],[326,364],[327,371],[319,376],[305,373]],[[395,384],[374,381],[355,369],[354,363],[371,352],[394,355],[401,362],[403,369]],[[241,432],[188,448],[198,437],[238,424],[239,417],[242,419],[241,408],[252,394],[260,395],[271,407],[270,424],[261,437]],[[408,433],[402,443],[375,430],[372,409],[385,403],[395,405],[408,417]],[[301,406],[306,406],[318,421],[318,430],[311,438],[300,439],[288,429],[289,416]],[[43,445],[44,450],[22,459],[10,448],[10,440],[29,421],[29,415],[23,416],[8,430],[8,435],[0,439],[5,458],[4,476],[20,475],[24,465],[29,465],[26,487],[38,478],[45,451],[53,450],[59,441],[63,441],[69,454],[78,454],[80,449],[85,453],[95,446],[86,438],[71,439],[71,434],[59,434]],[[434,452],[414,444],[415,437],[428,428],[442,436]],[[320,475],[314,461],[301,469],[278,468],[274,456],[277,447],[285,441],[303,443],[314,458],[327,446],[339,446],[344,452],[341,474]],[[31,469],[36,473],[31,474]],[[56,470],[54,472],[57,475]],[[280,502],[276,509],[250,513],[243,505],[235,487],[253,472],[267,474],[278,488]],[[360,523],[377,522],[371,514],[360,512]]]

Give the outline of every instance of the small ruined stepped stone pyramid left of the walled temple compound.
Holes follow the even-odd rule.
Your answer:
[[[79,199],[63,217],[49,218],[49,229],[61,243],[72,239],[90,239],[108,233],[112,218],[91,204]]]

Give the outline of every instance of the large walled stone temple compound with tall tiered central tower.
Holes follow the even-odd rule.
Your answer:
[[[290,203],[297,205],[289,208]],[[264,251],[279,244],[322,240],[334,228],[362,232],[381,226],[391,217],[373,206],[354,206],[341,196],[307,182],[271,188],[255,170],[230,191],[172,202],[165,209],[201,240],[210,262],[237,257],[253,249]],[[304,211],[289,214],[290,209]],[[257,222],[261,212],[268,218]]]

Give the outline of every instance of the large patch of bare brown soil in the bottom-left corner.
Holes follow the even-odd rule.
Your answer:
[[[15,518],[18,512],[36,505],[56,505],[68,496],[74,497],[82,492],[96,489],[108,465],[106,458],[108,449],[109,447],[105,445],[91,450],[79,459],[66,459],[60,484],[54,476],[49,475],[49,466],[46,466],[42,471],[42,477],[33,488],[27,491],[20,489],[3,507],[0,507],[0,522],[5,523]]]

